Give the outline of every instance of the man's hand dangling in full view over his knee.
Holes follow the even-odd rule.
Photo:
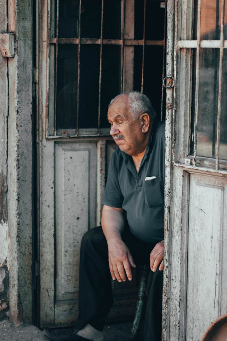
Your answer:
[[[127,276],[129,281],[131,281],[131,266],[133,268],[136,266],[126,244],[120,238],[113,238],[108,241],[108,250],[109,266],[112,279],[117,279],[118,282],[125,282]]]

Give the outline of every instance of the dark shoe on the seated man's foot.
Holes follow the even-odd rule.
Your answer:
[[[75,327],[66,329],[49,329],[44,328],[43,333],[48,339],[56,341],[88,341],[81,336],[77,335],[78,329]]]

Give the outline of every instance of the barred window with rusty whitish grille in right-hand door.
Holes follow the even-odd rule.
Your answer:
[[[227,1],[189,2],[194,10],[191,31],[189,16],[180,12],[178,0],[175,13],[174,72],[181,79],[189,76],[192,89],[191,147],[185,163],[217,172],[227,169]],[[185,16],[181,27],[177,24],[178,16]],[[181,65],[180,59],[186,53],[191,56],[188,60],[192,71],[185,71]],[[180,155],[177,158],[177,162],[182,162]]]

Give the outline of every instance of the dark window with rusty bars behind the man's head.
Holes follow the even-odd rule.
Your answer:
[[[123,91],[146,93],[162,118],[165,8],[163,0],[50,1],[47,138],[109,135],[108,103]]]

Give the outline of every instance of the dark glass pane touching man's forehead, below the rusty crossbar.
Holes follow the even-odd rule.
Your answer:
[[[120,46],[102,46],[100,127],[110,128],[107,109],[111,99],[120,93]]]

